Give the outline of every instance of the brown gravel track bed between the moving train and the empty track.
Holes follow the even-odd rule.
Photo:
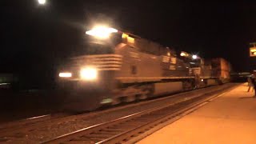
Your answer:
[[[183,102],[191,98],[209,94],[216,90],[223,90],[235,84],[224,86],[212,86],[205,89],[188,91],[180,94],[174,94],[170,97],[156,98],[149,101],[132,103],[125,106],[113,107],[107,110],[100,110],[86,114],[66,116],[63,118],[35,118],[21,123],[10,123],[9,127],[0,126],[0,142],[9,143],[38,143],[48,142],[58,138],[63,134],[71,134],[74,131],[98,125],[102,122],[110,122],[117,118],[126,117],[167,104]],[[43,121],[42,119],[45,119]],[[19,125],[20,124],[20,125]]]

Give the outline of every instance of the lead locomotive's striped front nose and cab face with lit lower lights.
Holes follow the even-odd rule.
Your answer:
[[[117,31],[113,30],[111,33]],[[94,35],[98,32],[87,31],[86,34],[92,35],[86,43],[86,47],[78,50],[66,66],[62,66],[59,81],[70,82],[86,82],[99,83],[102,81],[102,71],[115,68],[114,60],[118,60],[118,55],[114,54],[115,46],[121,42],[122,38],[118,38],[118,34]],[[120,37],[120,36],[119,36]],[[116,59],[115,59],[116,58]],[[103,74],[104,75],[104,74]]]

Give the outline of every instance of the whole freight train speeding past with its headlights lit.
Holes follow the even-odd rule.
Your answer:
[[[138,35],[108,27],[86,31],[85,53],[70,58],[58,86],[70,110],[94,110],[174,91],[217,85],[230,79],[223,58],[205,60]],[[65,100],[64,100],[65,99]]]

